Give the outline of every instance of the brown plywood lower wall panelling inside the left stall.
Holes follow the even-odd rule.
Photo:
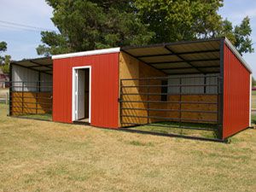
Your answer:
[[[12,114],[51,113],[52,93],[12,92]]]

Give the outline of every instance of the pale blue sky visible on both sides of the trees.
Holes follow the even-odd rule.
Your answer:
[[[36,58],[36,48],[42,44],[41,28],[57,31],[50,20],[52,9],[45,0],[0,0],[0,41],[8,44],[5,54],[11,55],[13,60]],[[253,68],[256,77],[256,1],[255,0],[224,0],[224,7],[219,9],[223,18],[230,20],[233,25],[239,25],[245,16],[251,19],[253,29],[253,47],[255,53],[243,55]],[[9,25],[6,22],[18,23],[26,26],[36,26],[28,29],[23,26]]]

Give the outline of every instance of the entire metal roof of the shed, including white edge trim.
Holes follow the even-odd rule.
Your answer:
[[[82,55],[101,55],[123,51],[126,54],[137,58],[137,60],[143,61],[149,66],[166,74],[219,73],[220,44],[222,40],[224,40],[224,43],[232,50],[247,70],[252,73],[247,62],[243,60],[228,38],[212,38],[168,44],[100,49],[73,54],[53,55],[52,57],[12,61],[11,63],[38,72],[52,74],[53,59]]]

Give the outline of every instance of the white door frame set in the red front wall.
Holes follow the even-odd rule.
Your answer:
[[[81,66],[81,67],[72,67],[72,121],[75,120],[75,75],[76,70],[78,69],[89,69],[89,120],[90,123],[90,109],[91,109],[91,66]]]

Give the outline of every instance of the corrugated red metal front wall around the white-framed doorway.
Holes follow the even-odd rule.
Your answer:
[[[73,67],[91,66],[90,125],[118,128],[119,53],[53,61],[53,120],[72,123]]]

